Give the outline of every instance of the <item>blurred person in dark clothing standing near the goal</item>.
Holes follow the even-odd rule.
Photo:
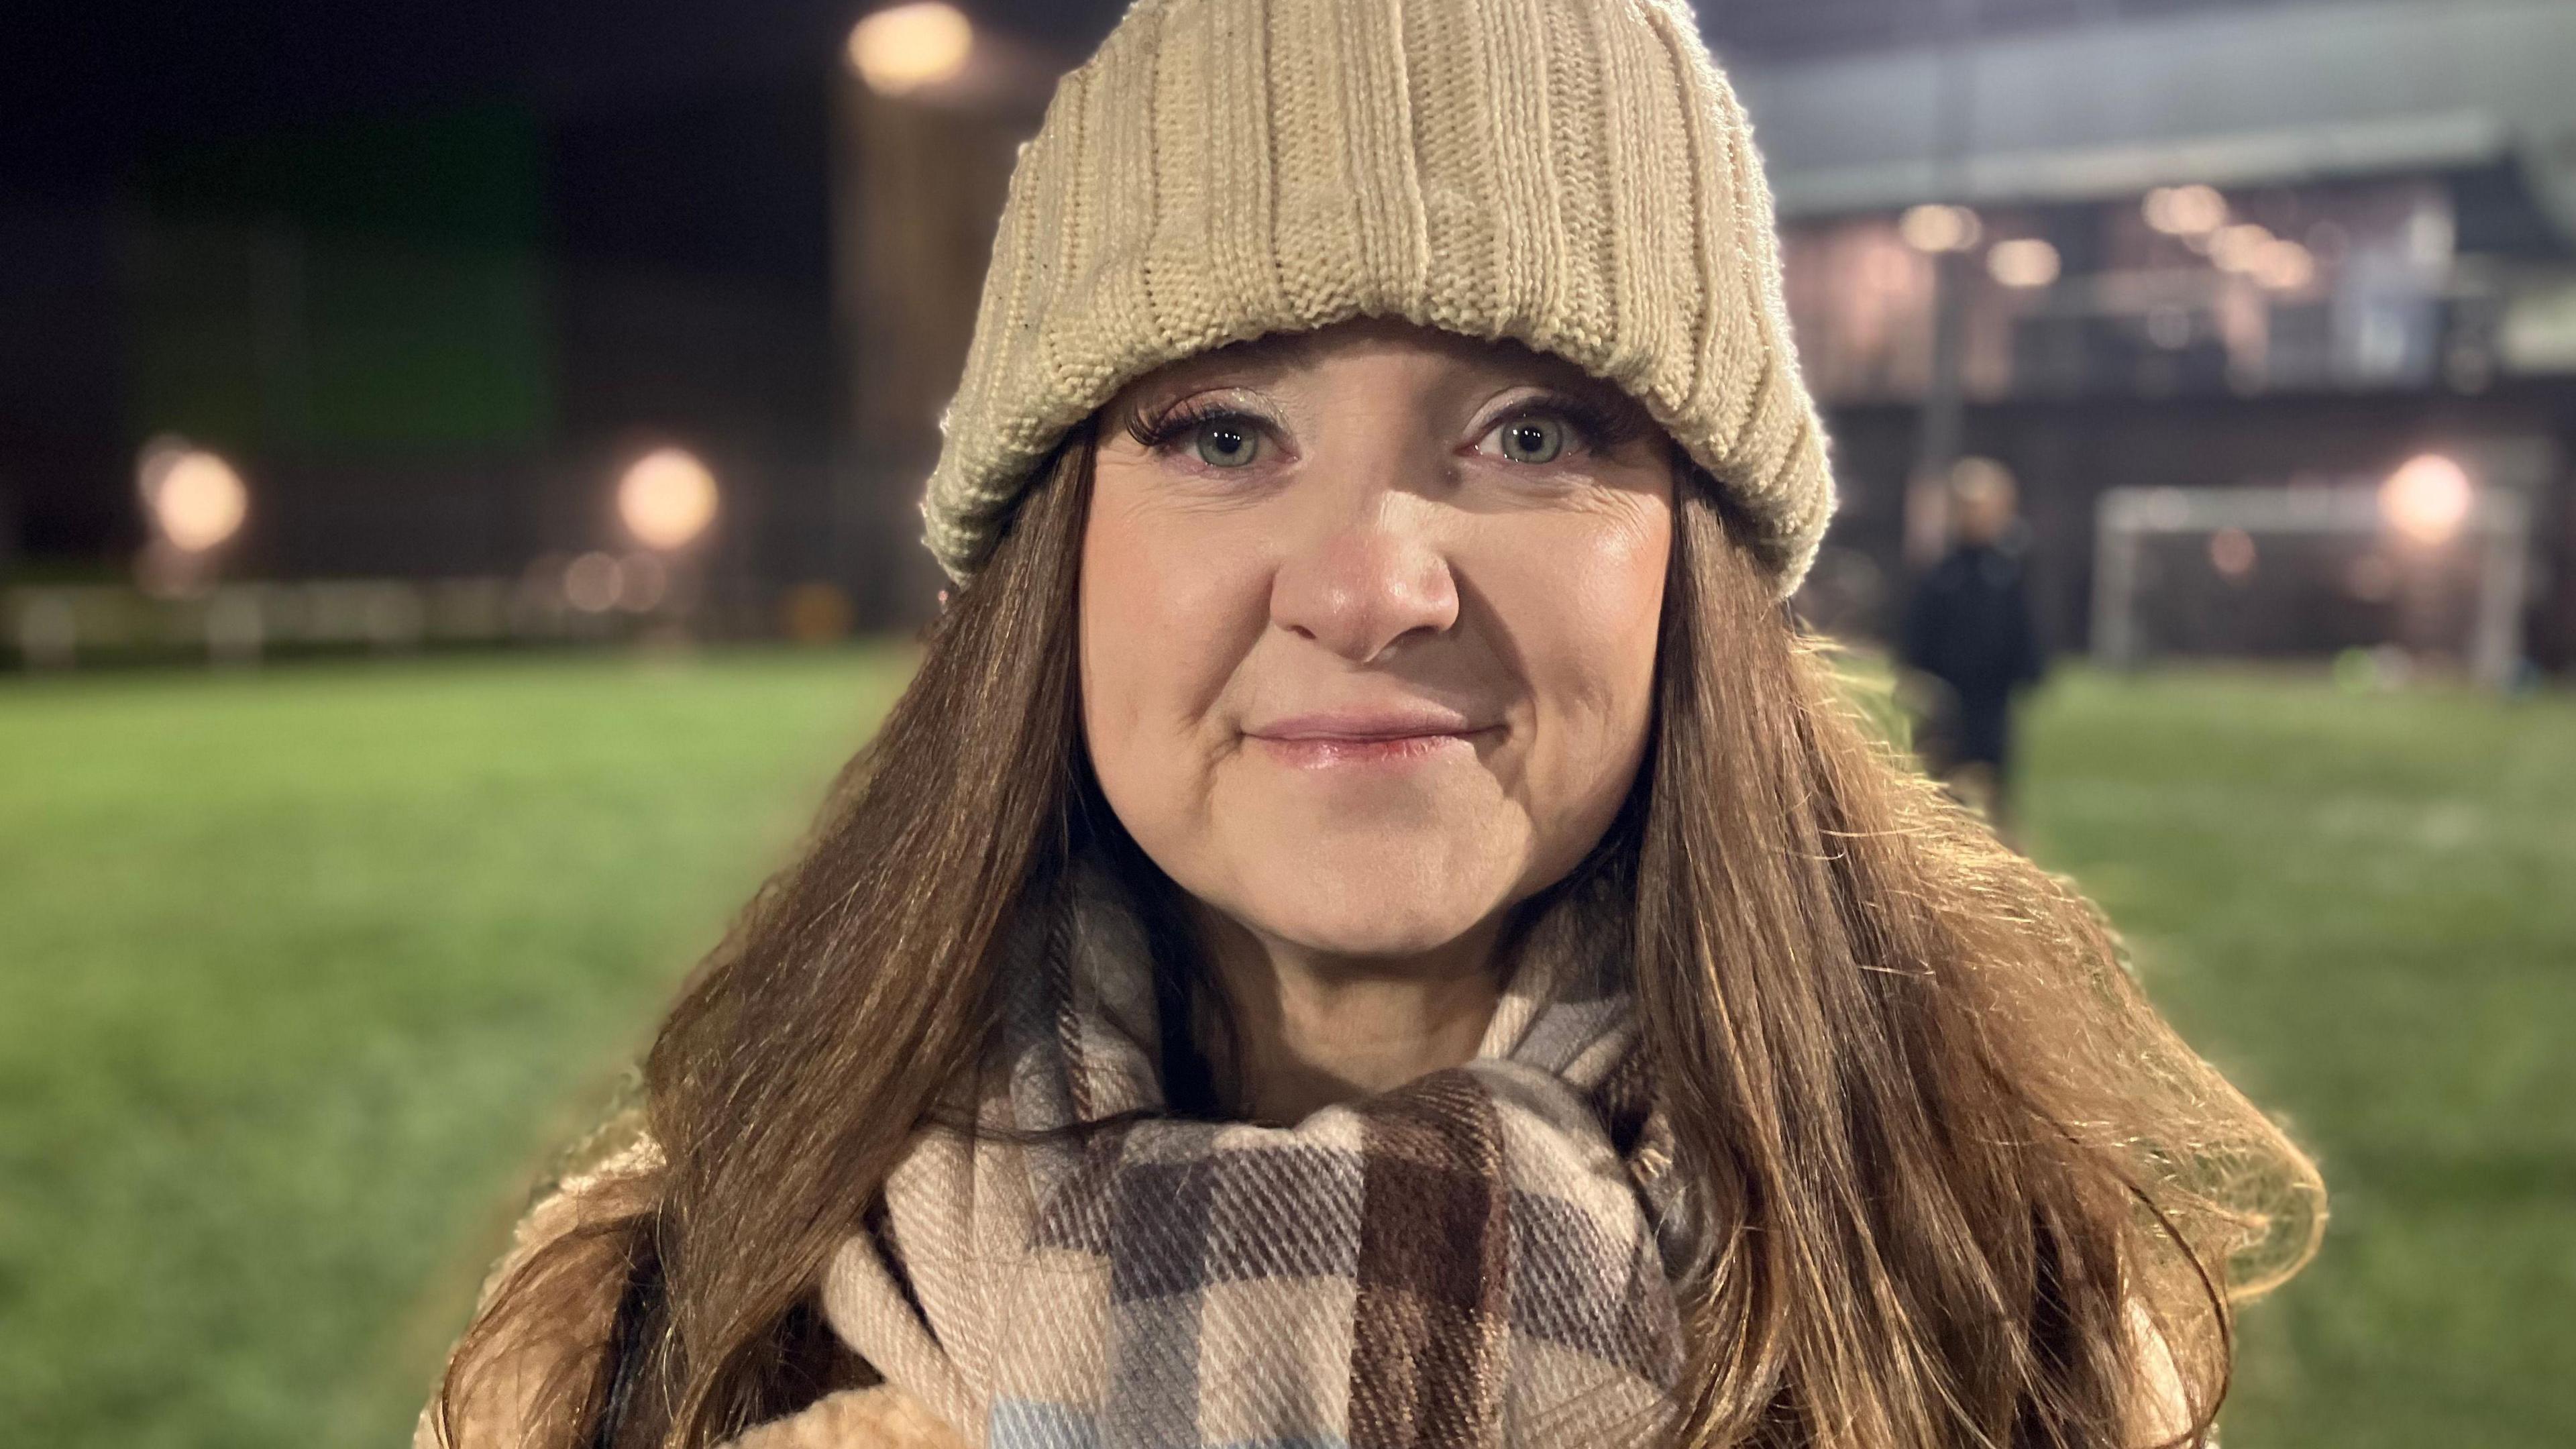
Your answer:
[[[1950,552],[1906,598],[1901,694],[1924,766],[2012,841],[2012,704],[2048,660],[2030,619],[2030,529],[1991,459],[1950,469]]]

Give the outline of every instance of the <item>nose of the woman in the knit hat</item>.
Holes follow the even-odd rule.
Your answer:
[[[1270,580],[1270,621],[1327,650],[1368,663],[1396,639],[1458,621],[1458,580],[1445,552],[1409,521],[1425,500],[1381,495],[1381,505],[1291,549]]]

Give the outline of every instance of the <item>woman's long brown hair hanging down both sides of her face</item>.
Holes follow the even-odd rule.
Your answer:
[[[1007,923],[1105,815],[1074,665],[1090,449],[1033,480],[670,1011],[657,1155],[487,1294],[433,1403],[461,1449],[497,1395],[549,1449],[706,1449],[873,1382],[819,1320],[822,1266],[974,1060]],[[1705,474],[1674,495],[1654,740],[1605,848],[1718,1227],[1677,1444],[2202,1439],[2231,1299],[2324,1227],[2316,1171],[2166,1029],[2084,897],[1855,712]],[[2179,1403],[2146,1403],[2159,1377]]]

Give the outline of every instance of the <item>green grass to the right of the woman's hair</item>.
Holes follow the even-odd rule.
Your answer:
[[[2069,678],[2032,851],[2318,1155],[2231,1449],[2576,1444],[2576,699]]]

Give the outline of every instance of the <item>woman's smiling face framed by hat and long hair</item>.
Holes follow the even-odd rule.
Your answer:
[[[1571,364],[1381,320],[1172,364],[1100,420],[1092,766],[1252,933],[1430,951],[1618,812],[1669,541],[1672,443]]]

